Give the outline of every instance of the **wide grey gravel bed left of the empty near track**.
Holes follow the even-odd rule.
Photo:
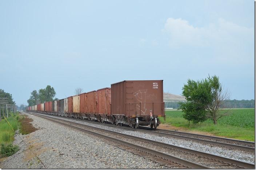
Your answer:
[[[104,142],[104,139],[101,140],[44,118],[27,115],[33,119],[32,125],[39,130],[27,135],[15,135],[14,144],[19,145],[20,150],[1,162],[1,168],[164,168],[148,159],[109,145]]]

